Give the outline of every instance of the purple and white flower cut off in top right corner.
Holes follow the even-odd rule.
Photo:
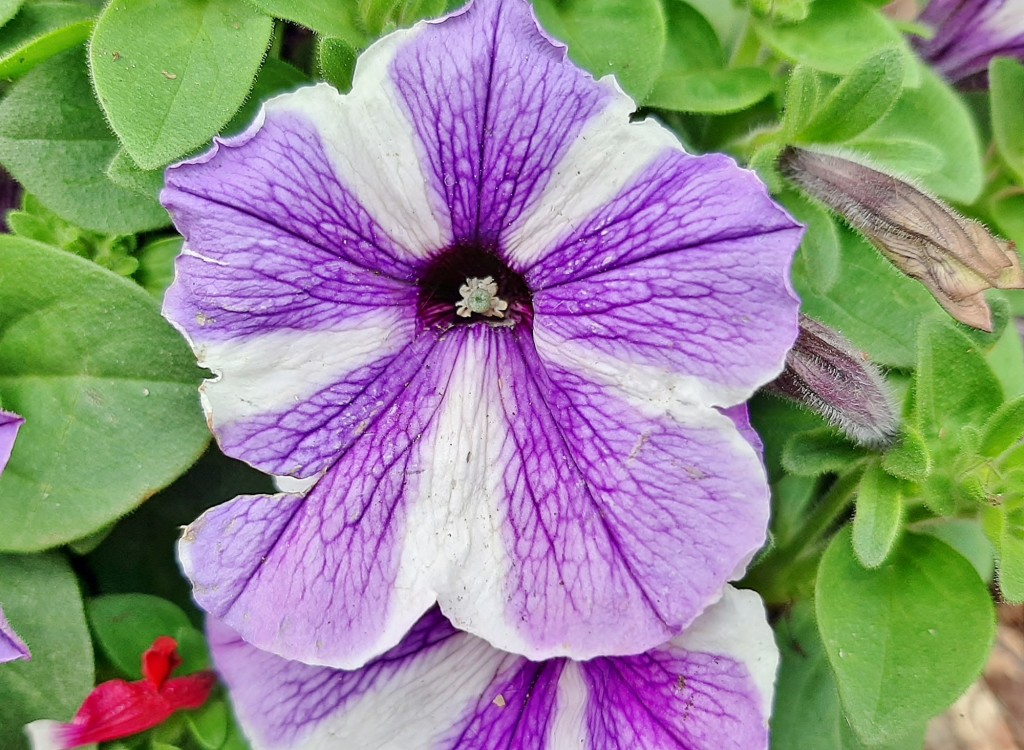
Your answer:
[[[919,20],[935,36],[918,51],[952,83],[987,85],[996,55],[1024,60],[1024,0],[931,0]]]

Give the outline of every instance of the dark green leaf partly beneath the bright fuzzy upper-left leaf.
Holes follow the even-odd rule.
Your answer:
[[[110,234],[169,224],[156,200],[106,177],[117,151],[82,50],[38,66],[0,101],[0,163],[48,208]]]

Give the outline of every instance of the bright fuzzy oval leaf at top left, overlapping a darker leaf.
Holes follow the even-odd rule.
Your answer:
[[[135,163],[163,166],[227,124],[272,29],[242,0],[113,0],[89,60],[99,102]]]

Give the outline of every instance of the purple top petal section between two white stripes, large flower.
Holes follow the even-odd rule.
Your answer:
[[[497,243],[616,90],[569,62],[520,0],[478,0],[423,27],[390,72],[456,243]]]

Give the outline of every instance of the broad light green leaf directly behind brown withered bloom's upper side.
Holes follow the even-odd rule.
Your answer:
[[[977,125],[963,98],[937,74],[921,68],[921,86],[904,88],[889,114],[848,145],[867,154],[878,167],[911,177],[941,198],[973,203],[985,180]],[[926,149],[939,150],[942,163],[938,169],[927,170],[925,163],[905,158],[893,164],[887,161],[891,154],[872,151],[870,145],[892,140],[924,141]]]

